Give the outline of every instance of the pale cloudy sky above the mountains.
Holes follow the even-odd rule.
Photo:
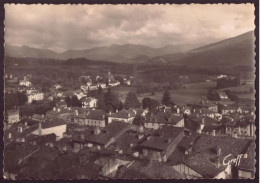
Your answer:
[[[254,30],[253,4],[5,5],[5,44],[56,52],[208,44]]]

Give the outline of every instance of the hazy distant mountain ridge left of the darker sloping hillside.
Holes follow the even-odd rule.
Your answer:
[[[113,44],[111,46],[94,47],[84,50],[68,50],[63,53],[57,53],[48,49],[6,45],[5,55],[16,58],[34,57],[59,60],[87,58],[90,60],[108,60],[113,62],[146,62],[153,57],[177,52],[186,52],[198,46],[201,45],[167,45],[162,48],[152,48],[149,46],[136,44]],[[139,60],[139,58],[141,58],[141,60]]]

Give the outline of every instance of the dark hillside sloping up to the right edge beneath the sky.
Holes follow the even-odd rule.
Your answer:
[[[168,54],[156,59],[163,59],[176,65],[195,67],[253,67],[254,40],[254,32],[250,31],[217,43],[192,49],[182,56]]]

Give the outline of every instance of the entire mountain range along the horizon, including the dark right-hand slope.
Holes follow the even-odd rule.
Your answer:
[[[45,58],[68,60],[87,58],[94,61],[111,61],[116,63],[161,63],[190,66],[253,66],[254,32],[225,39],[220,42],[202,45],[167,45],[152,48],[145,45],[113,44],[84,50],[68,50],[57,53],[48,49],[27,46],[5,46],[5,56],[15,58]]]

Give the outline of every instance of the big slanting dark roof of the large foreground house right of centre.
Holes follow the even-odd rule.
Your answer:
[[[180,133],[184,132],[184,128],[163,126],[154,131],[150,140],[141,143],[142,147],[164,151]]]

